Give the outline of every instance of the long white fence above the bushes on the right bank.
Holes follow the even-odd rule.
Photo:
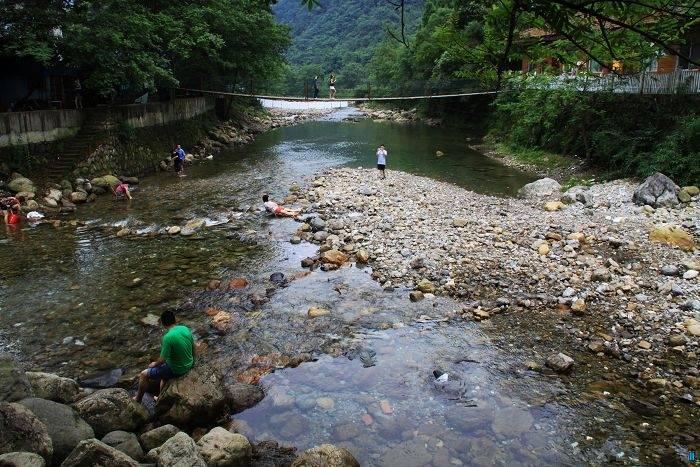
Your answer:
[[[627,94],[698,94],[700,93],[700,70],[676,70],[671,73],[638,73],[635,75],[608,74],[559,75],[550,79],[529,80],[513,83],[528,88],[558,89],[570,87],[584,92],[614,92]]]

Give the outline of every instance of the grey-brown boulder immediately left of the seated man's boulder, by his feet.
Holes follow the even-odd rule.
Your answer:
[[[146,409],[119,388],[95,391],[78,401],[75,409],[100,437],[110,431],[136,431],[148,421]]]

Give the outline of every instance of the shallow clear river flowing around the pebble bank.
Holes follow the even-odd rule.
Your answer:
[[[582,450],[588,433],[579,420],[593,414],[558,400],[562,383],[510,371],[522,362],[488,328],[448,324],[458,303],[409,303],[407,291],[383,291],[369,268],[298,275],[316,247],[291,245],[298,224],[259,213],[260,195],[281,199],[328,167],[372,167],[379,144],[389,151],[389,178],[404,170],[501,196],[533,180],[471,151],[463,132],[343,122],[349,112],[270,131],[188,167],[184,178],[147,177],[131,203],[103,197],[58,227],[3,233],[3,347],[34,369],[70,377],[112,368],[132,375],[158,351],[160,331],[144,318],[176,307],[230,377],[254,355],[313,356],[261,379],[267,397],[234,417],[251,441],[331,442],[362,465],[614,460],[617,442],[598,443],[595,459]],[[192,237],[162,233],[193,218],[208,227]],[[123,227],[137,234],[117,237]],[[273,272],[297,278],[271,288]],[[251,284],[245,296],[205,290],[238,276]],[[309,320],[310,306],[334,318]],[[231,312],[231,332],[210,328],[205,311],[212,308]],[[447,381],[433,371],[446,372]]]

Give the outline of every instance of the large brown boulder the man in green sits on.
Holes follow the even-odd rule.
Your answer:
[[[206,365],[170,380],[158,398],[156,416],[179,427],[202,426],[228,415],[226,387],[221,375]]]

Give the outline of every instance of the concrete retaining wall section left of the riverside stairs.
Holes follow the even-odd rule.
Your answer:
[[[34,110],[0,114],[0,147],[46,143],[75,135],[83,114],[79,110]]]

